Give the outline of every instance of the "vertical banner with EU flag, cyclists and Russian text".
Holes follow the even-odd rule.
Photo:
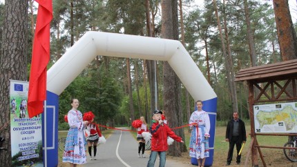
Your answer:
[[[10,80],[10,134],[12,166],[44,166],[41,115],[28,117],[27,81]]]

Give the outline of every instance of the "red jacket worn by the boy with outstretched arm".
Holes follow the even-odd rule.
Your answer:
[[[167,137],[171,137],[175,141],[182,141],[181,137],[175,133],[166,124],[160,125],[159,122],[153,123],[150,127],[151,132],[151,150],[166,151],[168,150]]]

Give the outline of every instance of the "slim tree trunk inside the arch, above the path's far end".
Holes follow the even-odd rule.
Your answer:
[[[130,119],[134,120],[134,107],[133,107],[133,95],[132,95],[132,84],[131,84],[131,72],[130,72],[130,59],[126,58],[126,66],[127,66],[127,81],[128,81],[128,94],[129,94],[129,109],[130,109]],[[131,124],[129,124],[131,125]]]

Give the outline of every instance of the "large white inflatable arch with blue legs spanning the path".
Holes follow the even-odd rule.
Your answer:
[[[182,43],[170,39],[157,39],[153,37],[108,32],[87,32],[48,70],[47,110],[49,109],[48,106],[54,106],[52,108],[56,108],[55,111],[57,112],[61,92],[63,92],[97,55],[168,61],[193,99],[204,101],[204,110],[209,108],[207,111],[210,113],[211,117],[211,113],[213,113],[214,119],[211,119],[213,120],[211,121],[211,129],[213,129],[211,131],[213,131],[213,134],[211,138],[214,137],[213,127],[215,127],[217,96],[207,79],[205,79],[202,72],[200,72],[196,63],[191,59],[189,53],[186,52],[184,46],[182,46]],[[51,117],[48,114],[47,116]],[[57,120],[57,118],[55,118],[57,114],[52,117],[54,121],[55,119]],[[55,122],[57,124],[57,121]],[[53,131],[57,130],[55,125],[51,127],[53,127]],[[53,133],[57,134],[57,132]],[[55,140],[57,139],[53,137],[52,142],[54,146]],[[213,147],[211,139],[209,146]],[[206,163],[205,165],[211,166],[212,161],[213,159],[211,158],[210,164]]]

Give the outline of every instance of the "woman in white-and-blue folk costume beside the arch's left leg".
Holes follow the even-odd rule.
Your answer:
[[[71,100],[73,108],[69,110],[67,119],[70,129],[65,143],[65,150],[63,154],[63,162],[69,162],[70,167],[75,167],[77,164],[86,163],[86,137],[84,136],[84,129],[88,121],[83,121],[82,112],[77,110],[79,101],[77,99]]]

